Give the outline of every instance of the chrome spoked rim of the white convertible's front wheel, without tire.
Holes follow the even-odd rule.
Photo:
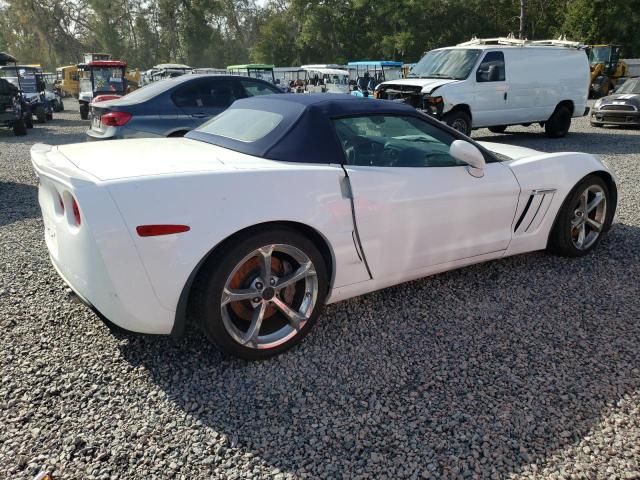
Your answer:
[[[579,250],[589,249],[604,229],[607,197],[600,185],[590,185],[579,197],[571,221],[571,240]]]

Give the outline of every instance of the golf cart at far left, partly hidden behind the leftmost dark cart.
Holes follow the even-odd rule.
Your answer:
[[[42,69],[32,65],[0,66],[0,77],[21,90],[29,112],[35,115],[38,123],[53,118],[53,109],[45,96]],[[27,125],[28,126],[28,125]]]

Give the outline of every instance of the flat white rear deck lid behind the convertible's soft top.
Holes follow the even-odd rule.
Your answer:
[[[57,148],[76,168],[102,181],[281,166],[188,138],[87,142]]]

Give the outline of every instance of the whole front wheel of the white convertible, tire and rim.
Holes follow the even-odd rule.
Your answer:
[[[566,257],[586,255],[596,248],[611,225],[614,208],[604,180],[597,175],[587,176],[560,207],[549,249]]]

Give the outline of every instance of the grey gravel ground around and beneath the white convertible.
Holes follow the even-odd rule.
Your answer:
[[[50,266],[28,150],[77,104],[0,132],[0,477],[640,478],[640,131],[574,121],[475,138],[606,159],[598,250],[534,253],[327,308],[292,352],[112,333]]]

